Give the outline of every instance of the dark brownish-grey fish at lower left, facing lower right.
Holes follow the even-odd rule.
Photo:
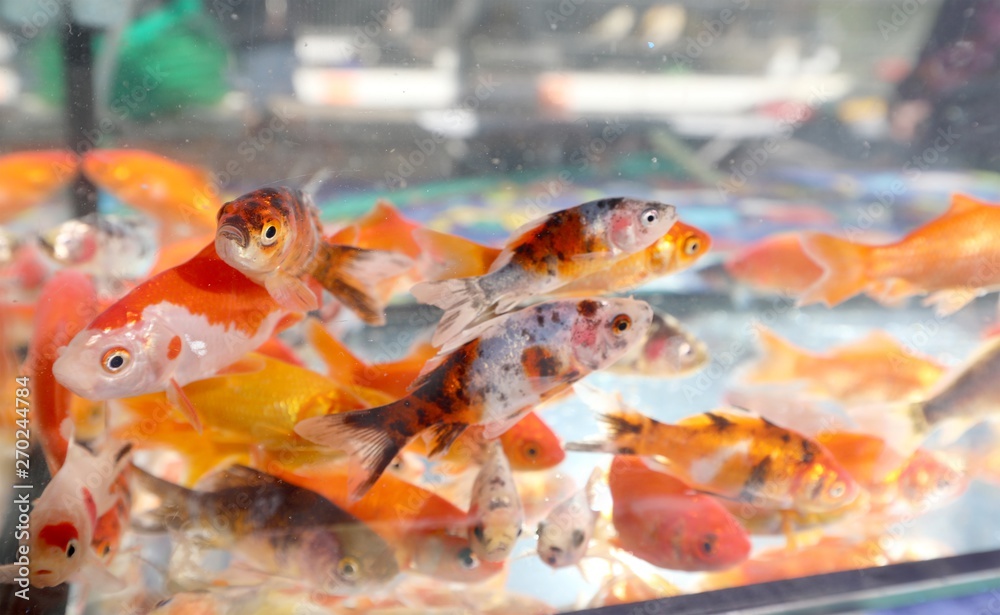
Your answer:
[[[197,532],[203,546],[229,548],[265,574],[329,593],[370,591],[398,573],[378,534],[314,491],[243,466],[224,471],[211,491],[134,470],[139,484],[161,499],[146,529]]]

